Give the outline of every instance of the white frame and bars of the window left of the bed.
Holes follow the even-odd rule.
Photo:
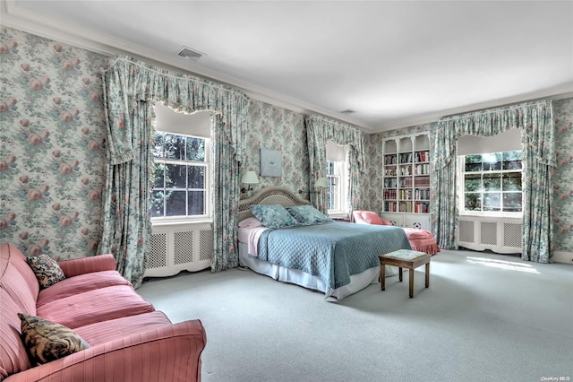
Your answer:
[[[205,161],[188,161],[188,160],[174,160],[174,159],[165,159],[165,158],[156,158],[152,155],[153,159],[153,169],[155,169],[156,163],[165,163],[165,164],[179,164],[179,165],[192,165],[192,166],[201,166],[205,168],[205,179],[202,191],[204,191],[204,199],[203,199],[203,211],[204,213],[201,215],[179,215],[179,216],[156,216],[151,218],[151,223],[153,225],[163,225],[163,224],[172,224],[172,223],[182,223],[182,222],[201,222],[201,221],[211,221],[212,217],[210,215],[211,211],[211,192],[212,192],[212,185],[211,185],[211,163],[212,163],[212,152],[211,152],[211,140],[210,138],[205,138],[202,136],[196,135],[183,135],[179,133],[170,133],[168,131],[157,131],[157,133],[162,134],[169,134],[169,135],[180,135],[180,136],[189,136],[192,138],[204,139],[205,140]],[[155,133],[154,133],[155,134]],[[175,190],[175,188],[173,188]],[[176,188],[177,190],[182,190],[183,188]],[[151,191],[153,192],[156,190],[156,187],[152,187]],[[166,191],[171,190],[171,188],[165,188]],[[186,190],[199,190],[199,188],[186,188]],[[165,204],[164,204],[165,208]]]

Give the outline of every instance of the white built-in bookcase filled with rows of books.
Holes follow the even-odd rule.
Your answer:
[[[383,157],[382,215],[402,227],[430,230],[430,136],[389,138],[384,141]]]

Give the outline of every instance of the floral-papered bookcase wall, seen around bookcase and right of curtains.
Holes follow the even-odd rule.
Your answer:
[[[553,101],[555,118],[555,141],[558,166],[553,172],[552,187],[554,195],[554,249],[573,253],[573,98]],[[410,126],[397,130],[366,135],[366,157],[368,177],[366,194],[369,210],[382,210],[382,152],[385,138],[430,131],[437,123]],[[567,258],[566,256],[562,258]]]

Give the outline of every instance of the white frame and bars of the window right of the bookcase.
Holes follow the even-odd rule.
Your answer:
[[[517,152],[522,150],[506,150],[504,152]],[[484,155],[488,152],[479,153],[476,152],[475,154],[467,154],[467,155]],[[492,152],[495,153],[495,152]],[[494,170],[481,170],[481,171],[468,171],[466,172],[466,156],[467,155],[458,155],[458,211],[460,215],[464,216],[491,216],[491,217],[508,217],[508,218],[522,218],[523,217],[523,208],[524,208],[524,195],[525,191],[523,189],[523,171],[525,169],[525,160],[522,158],[521,160],[521,169],[494,169]],[[488,173],[496,173],[496,174],[503,174],[503,173],[510,173],[510,172],[520,172],[522,174],[522,185],[521,185],[521,208],[522,211],[520,213],[514,212],[502,212],[502,211],[466,211],[466,182],[465,182],[465,175],[466,174],[488,174]],[[501,194],[501,203],[503,203],[503,193],[504,191],[499,191]],[[508,191],[509,192],[509,191]],[[512,191],[515,192],[515,191]],[[481,194],[484,192],[482,191]],[[483,207],[483,205],[482,205]]]

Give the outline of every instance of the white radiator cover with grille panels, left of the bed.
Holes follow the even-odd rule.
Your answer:
[[[143,277],[165,277],[210,267],[213,229],[209,222],[153,226]]]

